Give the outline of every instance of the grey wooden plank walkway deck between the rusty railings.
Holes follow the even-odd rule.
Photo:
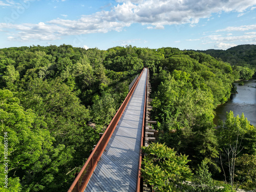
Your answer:
[[[136,191],[145,69],[84,191]]]

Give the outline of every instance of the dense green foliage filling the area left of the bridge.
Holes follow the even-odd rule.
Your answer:
[[[114,72],[103,66],[111,56],[106,58],[108,52],[97,48],[0,50],[0,86],[2,95],[9,94],[1,114],[12,138],[10,189],[67,190],[143,68],[141,58],[148,56],[144,52],[140,58],[136,52],[122,49],[116,56],[125,57],[126,63],[120,65],[131,72]],[[9,105],[9,111],[5,109],[8,103],[12,111]],[[88,121],[96,127],[88,126]]]

